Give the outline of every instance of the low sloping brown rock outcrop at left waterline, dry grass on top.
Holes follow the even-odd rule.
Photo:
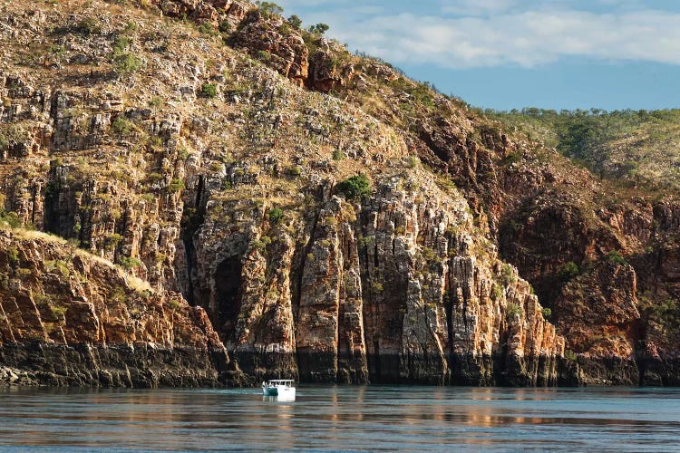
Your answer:
[[[34,232],[0,232],[0,383],[214,386],[228,355],[206,313]],[[231,373],[229,376],[236,376]]]

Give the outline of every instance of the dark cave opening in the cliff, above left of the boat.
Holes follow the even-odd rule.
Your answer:
[[[218,329],[227,342],[236,338],[236,324],[241,310],[242,267],[240,258],[232,256],[222,261],[215,271]]]

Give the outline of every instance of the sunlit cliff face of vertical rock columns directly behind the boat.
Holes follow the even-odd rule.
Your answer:
[[[195,298],[240,370],[255,381],[558,381],[564,340],[529,285],[471,236],[461,198],[415,186],[395,179],[361,204],[322,187],[286,227],[262,209],[218,225],[209,202]]]

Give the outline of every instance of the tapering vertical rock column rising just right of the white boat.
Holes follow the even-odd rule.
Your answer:
[[[341,203],[321,210],[302,275],[296,344],[306,381],[366,381],[358,252]]]

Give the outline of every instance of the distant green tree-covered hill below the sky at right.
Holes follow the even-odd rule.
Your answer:
[[[600,177],[650,188],[680,186],[680,110],[479,112]]]

